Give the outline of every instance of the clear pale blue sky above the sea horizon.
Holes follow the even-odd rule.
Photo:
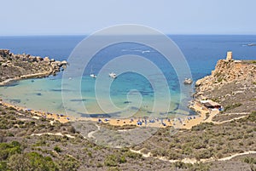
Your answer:
[[[90,34],[140,24],[166,34],[256,34],[255,0],[0,0],[0,36]]]

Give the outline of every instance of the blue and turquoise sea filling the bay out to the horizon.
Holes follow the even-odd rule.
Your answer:
[[[233,58],[237,60],[256,60],[256,46],[247,46],[256,43],[256,36],[169,37],[187,60],[194,81],[210,75],[217,61],[225,58],[227,51],[232,51]],[[68,60],[73,48],[83,39],[84,36],[0,37],[0,48],[8,48],[14,54],[26,53],[49,56],[55,60]],[[130,59],[143,56],[157,66],[162,74],[148,68],[147,62],[133,63],[127,60],[120,68],[117,65],[108,65],[109,61],[124,55],[128,55],[127,58]],[[187,107],[194,93],[193,85],[179,82],[175,68],[156,49],[138,43],[117,43],[102,48],[90,58],[92,60],[84,68],[81,77],[72,75],[62,79],[65,71],[61,71],[56,76],[22,80],[0,87],[0,97],[15,105],[76,117],[166,117],[193,114]],[[120,72],[123,65],[134,68],[132,71],[128,68],[126,72]],[[141,72],[137,73],[136,68]],[[116,72],[118,77],[108,77],[111,71]],[[142,72],[144,74],[140,74]],[[99,77],[92,78],[90,73]],[[166,82],[160,79],[162,76]],[[74,84],[79,87],[73,86]],[[166,94],[170,94],[170,98]]]

